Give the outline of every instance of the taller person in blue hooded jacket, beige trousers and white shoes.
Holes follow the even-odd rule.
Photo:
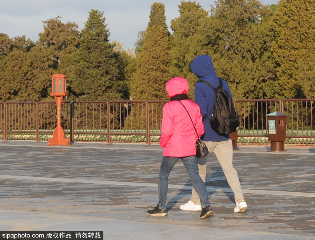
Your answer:
[[[197,56],[190,64],[192,72],[199,78],[199,80],[208,81],[214,87],[218,87],[219,78],[215,73],[212,59],[208,55]],[[223,82],[223,89],[231,96],[230,88],[225,80]],[[200,112],[203,119],[204,135],[201,137],[206,144],[209,153],[214,152],[219,160],[221,168],[226,176],[235,198],[235,213],[245,212],[247,204],[242,193],[241,184],[239,182],[238,173],[232,164],[233,147],[229,134],[224,136],[218,135],[210,126],[209,118],[211,118],[214,104],[215,91],[205,83],[197,82],[195,85],[195,102],[200,107]],[[205,181],[207,173],[207,156],[197,160],[199,175]],[[188,203],[180,206],[180,209],[187,211],[201,210],[200,198],[197,192],[192,189],[192,198]]]

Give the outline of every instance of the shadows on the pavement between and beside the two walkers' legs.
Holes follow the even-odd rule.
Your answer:
[[[208,165],[209,166],[209,165]],[[208,167],[209,169],[209,167]],[[222,189],[223,193],[225,193],[225,195],[230,199],[230,201],[232,203],[235,203],[235,199],[234,199],[234,194],[231,191],[225,191],[226,188],[230,188],[230,185],[228,184],[226,177],[224,175],[224,172],[221,168],[221,166],[212,166],[210,167],[210,171],[207,172],[206,175],[206,180],[205,180],[205,184],[206,187],[215,187],[219,189]],[[241,182],[241,179],[240,179]],[[191,187],[190,189],[187,189],[186,187]],[[190,200],[190,199],[186,199],[191,197],[192,195],[192,181],[188,180],[185,183],[185,189],[180,189],[180,190],[173,190],[175,192],[177,192],[177,194],[175,196],[173,196],[167,203],[166,205],[166,209],[167,211],[169,211],[170,209],[172,209],[178,202],[183,202],[186,203],[186,200]],[[230,188],[231,189],[231,188]],[[169,189],[169,193],[171,193],[171,189]],[[215,191],[213,190],[208,190],[208,197],[210,199],[210,203],[211,203],[211,196],[215,193]],[[185,198],[186,200],[183,201],[181,199]]]

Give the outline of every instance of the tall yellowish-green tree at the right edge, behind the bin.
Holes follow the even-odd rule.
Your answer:
[[[280,0],[272,28],[279,98],[315,98],[315,3]]]

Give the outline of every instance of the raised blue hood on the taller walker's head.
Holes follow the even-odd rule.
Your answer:
[[[217,80],[215,68],[213,67],[212,59],[208,55],[197,56],[190,64],[192,72],[204,81]]]

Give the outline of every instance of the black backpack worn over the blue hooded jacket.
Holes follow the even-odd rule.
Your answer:
[[[235,111],[232,98],[223,90],[222,79],[219,78],[219,86],[213,87],[209,82],[200,80],[215,91],[215,106],[209,122],[211,128],[220,136],[237,131],[239,127],[239,115]]]

